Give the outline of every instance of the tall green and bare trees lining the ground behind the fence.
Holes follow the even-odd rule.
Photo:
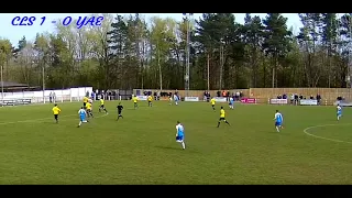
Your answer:
[[[3,79],[47,88],[190,89],[348,87],[351,15],[299,13],[298,35],[280,13],[187,19],[103,14],[101,26],[57,25],[55,33],[0,40]],[[187,34],[190,25],[189,34]],[[187,56],[189,35],[189,56]],[[44,74],[43,75],[43,70]]]

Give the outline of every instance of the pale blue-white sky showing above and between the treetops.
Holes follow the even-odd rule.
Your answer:
[[[130,13],[119,13],[121,15],[130,14]],[[54,32],[55,24],[52,23],[53,20],[64,19],[66,16],[72,16],[74,20],[79,16],[90,15],[90,13],[0,13],[0,37],[8,38],[12,43],[12,45],[16,46],[19,40],[23,36],[28,41],[33,41],[35,38],[36,33],[42,32]],[[113,14],[116,15],[116,13]],[[183,19],[182,13],[141,13],[146,20],[152,16],[161,16],[161,18],[173,18],[175,20],[180,21]],[[252,15],[258,15],[262,19],[265,18],[266,13],[252,13]],[[301,28],[301,22],[299,21],[299,16],[297,13],[283,13],[285,18],[287,18],[287,28],[293,28],[294,33],[299,31]],[[31,26],[14,26],[12,25],[12,19],[15,16],[35,16],[36,21]],[[45,16],[45,22],[41,25],[41,18]],[[194,19],[199,19],[201,13],[195,13]],[[239,23],[244,22],[245,13],[234,13],[235,21]]]

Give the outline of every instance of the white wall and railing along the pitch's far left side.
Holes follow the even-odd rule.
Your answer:
[[[69,89],[58,89],[58,90],[45,90],[43,91],[22,91],[22,92],[3,92],[0,100],[12,100],[12,99],[31,99],[32,103],[38,102],[50,102],[51,92],[55,95],[52,97],[53,102],[64,102],[64,101],[81,101],[86,96],[87,91],[89,97],[92,92],[92,87],[78,87]]]

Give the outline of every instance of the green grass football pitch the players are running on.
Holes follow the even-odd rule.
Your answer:
[[[117,101],[106,102],[106,117],[95,103],[100,118],[82,128],[80,103],[61,103],[59,124],[48,105],[1,108],[0,184],[352,184],[352,109],[337,122],[334,107],[224,105],[232,125],[217,129],[219,111],[209,103],[123,105],[117,122]],[[285,119],[280,133],[275,109]],[[175,142],[177,120],[185,151]],[[304,133],[322,124],[337,125],[308,132],[345,142]]]

